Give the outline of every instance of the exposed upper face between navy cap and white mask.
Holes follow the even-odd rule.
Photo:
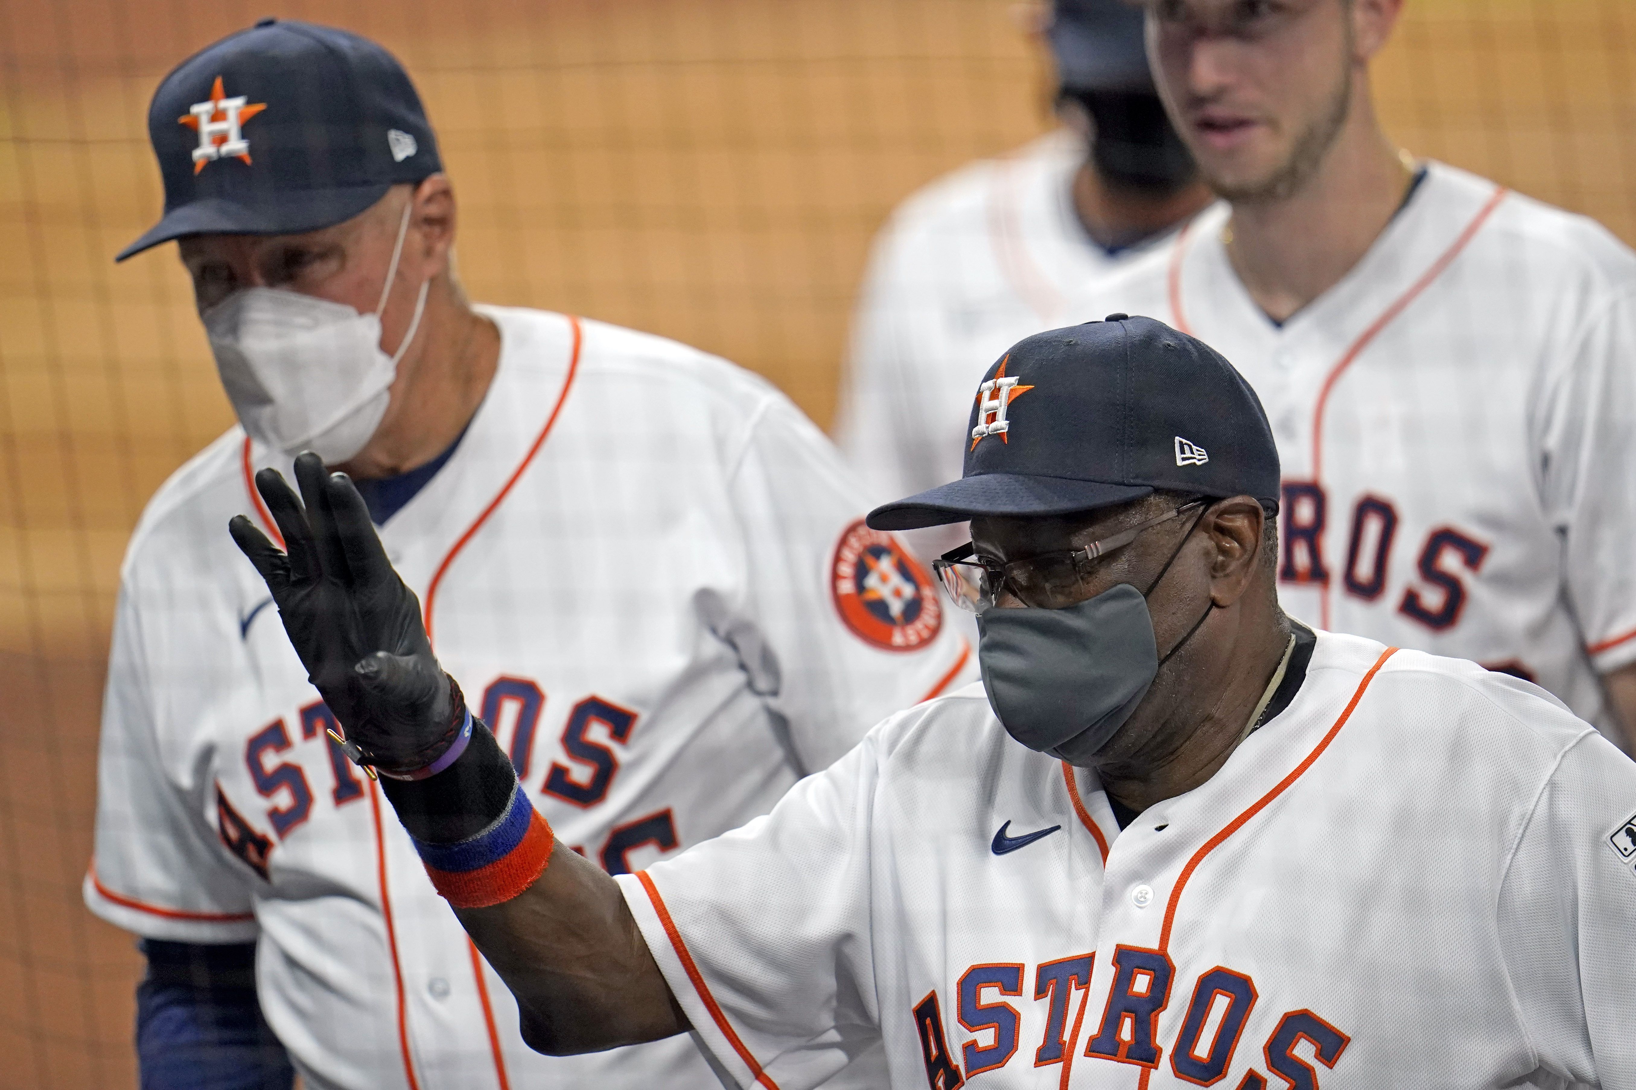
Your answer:
[[[193,279],[193,301],[203,314],[234,291],[258,286],[344,302],[371,314],[381,301],[407,199],[409,186],[394,186],[352,219],[299,235],[182,239],[177,245]],[[419,284],[406,279],[398,276],[394,294],[407,291],[412,306]]]

